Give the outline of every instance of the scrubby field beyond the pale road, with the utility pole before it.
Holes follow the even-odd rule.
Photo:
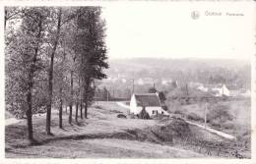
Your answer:
[[[206,103],[189,105],[173,103],[169,108],[171,113],[196,123],[204,124]],[[207,126],[233,135],[242,146],[250,147],[250,99],[210,102],[207,104],[207,108]],[[220,110],[221,113],[218,115]],[[213,115],[216,115],[216,117]]]

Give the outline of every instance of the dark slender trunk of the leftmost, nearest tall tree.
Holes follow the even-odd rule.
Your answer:
[[[36,38],[39,40],[41,36],[41,31],[42,31],[42,16],[39,18],[39,23],[38,23],[38,33],[36,35]],[[27,93],[27,104],[28,104],[28,109],[26,111],[27,114],[27,124],[28,124],[28,139],[33,142],[33,137],[32,137],[32,79],[33,79],[33,74],[34,74],[34,69],[35,69],[35,63],[36,63],[36,58],[38,54],[38,49],[39,49],[39,42],[36,43],[36,46],[34,48],[34,55],[32,59],[32,66],[30,68],[30,73],[29,73],[29,82],[28,82],[28,93]]]

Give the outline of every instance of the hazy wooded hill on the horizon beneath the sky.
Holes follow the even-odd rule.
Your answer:
[[[134,80],[153,78],[179,83],[225,83],[237,88],[250,88],[251,82],[248,60],[131,58],[110,60],[109,65],[108,77],[120,74]]]

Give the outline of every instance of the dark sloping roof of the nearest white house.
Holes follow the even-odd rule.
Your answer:
[[[160,106],[159,96],[155,93],[135,94],[138,106]]]

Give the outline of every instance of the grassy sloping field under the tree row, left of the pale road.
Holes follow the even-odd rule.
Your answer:
[[[26,140],[26,121],[6,126],[6,157],[53,158],[188,158],[235,157],[231,141],[186,124],[181,119],[139,120],[117,118],[127,109],[115,102],[97,102],[89,110],[89,119],[58,128],[57,111],[53,112],[52,133],[46,136],[45,117],[33,118],[33,133],[38,145]],[[242,152],[243,153],[243,152]],[[242,154],[240,153],[240,154]],[[248,154],[244,154],[248,157]]]

